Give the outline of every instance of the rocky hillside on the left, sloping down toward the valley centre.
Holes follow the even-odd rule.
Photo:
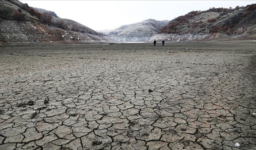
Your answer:
[[[54,12],[32,8],[18,0],[0,0],[0,44],[96,43],[113,41]]]

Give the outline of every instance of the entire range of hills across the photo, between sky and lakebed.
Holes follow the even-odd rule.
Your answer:
[[[0,1],[0,44],[256,39],[256,4],[191,11],[171,21],[150,18],[97,32],[76,21],[60,18],[53,11],[29,7],[18,0]]]

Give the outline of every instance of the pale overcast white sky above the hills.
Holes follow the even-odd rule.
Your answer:
[[[219,1],[75,1],[20,0],[31,7],[54,11],[60,18],[77,21],[93,30],[114,29],[146,19],[172,20],[192,10],[210,7],[236,7],[256,3],[256,0]]]

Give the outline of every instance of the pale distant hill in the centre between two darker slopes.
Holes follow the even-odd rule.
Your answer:
[[[169,22],[167,20],[148,19],[134,24],[123,25],[105,33],[117,41],[148,41]]]

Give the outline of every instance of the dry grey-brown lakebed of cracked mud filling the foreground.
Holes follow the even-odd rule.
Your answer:
[[[255,43],[0,52],[0,149],[256,149]]]

